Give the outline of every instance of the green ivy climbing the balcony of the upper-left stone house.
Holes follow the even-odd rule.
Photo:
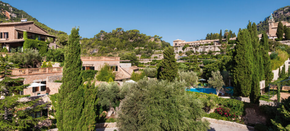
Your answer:
[[[47,52],[49,42],[39,41],[38,35],[36,35],[35,37],[36,37],[35,40],[28,39],[27,32],[24,31],[23,32],[23,39],[25,41],[23,44],[23,48],[28,49],[28,48],[35,47],[38,49],[38,52],[43,56]]]

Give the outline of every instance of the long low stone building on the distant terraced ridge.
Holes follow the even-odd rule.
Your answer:
[[[236,37],[234,38],[230,38],[230,40],[236,40]],[[223,41],[226,41],[226,39],[223,39]],[[199,40],[199,41],[189,41],[186,42],[184,40],[174,40],[173,41],[173,47],[184,47],[184,45],[188,44],[189,47],[199,47],[201,45],[208,45],[208,44],[213,44],[214,46],[221,46],[221,44],[219,43],[219,39],[216,40]]]

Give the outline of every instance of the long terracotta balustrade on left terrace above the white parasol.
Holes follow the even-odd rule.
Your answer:
[[[37,75],[37,74],[49,74],[49,73],[62,73],[63,67],[48,67],[48,68],[27,68],[27,69],[15,69],[11,74],[15,76],[20,75]]]

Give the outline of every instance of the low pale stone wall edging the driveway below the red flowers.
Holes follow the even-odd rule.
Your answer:
[[[239,124],[239,123],[235,123],[235,122],[231,122],[231,121],[223,121],[223,120],[217,120],[217,119],[207,118],[207,117],[203,117],[203,120],[207,120],[210,123],[228,125],[228,126],[237,127],[237,128],[241,128],[241,129],[252,130],[252,131],[254,130],[254,127],[243,125],[243,124]]]

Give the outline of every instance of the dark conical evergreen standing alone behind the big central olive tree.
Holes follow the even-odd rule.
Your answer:
[[[178,64],[174,58],[173,47],[167,47],[163,52],[163,56],[164,58],[157,68],[157,79],[174,81],[175,78],[178,78]]]

